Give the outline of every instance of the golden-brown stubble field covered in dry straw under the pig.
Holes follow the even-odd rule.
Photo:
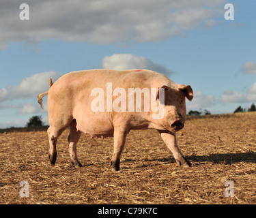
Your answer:
[[[68,130],[58,140],[54,167],[46,130],[1,133],[0,203],[256,204],[255,121],[256,112],[186,121],[177,132],[180,150],[193,165],[185,170],[154,129],[130,131],[117,173],[109,166],[113,138],[83,135],[83,168],[72,168]],[[20,197],[21,181],[29,183],[29,197]],[[225,196],[226,181],[233,184],[233,197]]]

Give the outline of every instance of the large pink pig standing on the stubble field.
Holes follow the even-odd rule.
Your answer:
[[[49,89],[38,95],[38,103],[42,107],[42,97],[48,94],[48,161],[51,166],[55,165],[57,159],[57,139],[68,127],[70,159],[74,167],[82,166],[77,157],[76,144],[81,133],[85,133],[102,140],[114,137],[111,170],[118,171],[126,136],[131,129],[157,129],[177,165],[184,168],[191,166],[180,152],[176,140],[176,132],[184,127],[186,121],[186,98],[190,101],[193,99],[190,85],[176,84],[163,74],[147,69],[89,69],[65,74],[55,83],[50,78],[48,82]],[[162,113],[159,112],[161,116],[153,118],[157,111],[149,109],[148,97],[145,97],[145,93],[143,97],[142,92],[139,93],[141,108],[135,110],[134,106],[130,106],[137,100],[134,93],[129,93],[132,88],[149,89],[147,93],[151,90],[151,106],[153,103],[159,108],[162,106]],[[122,110],[120,104],[123,104]]]

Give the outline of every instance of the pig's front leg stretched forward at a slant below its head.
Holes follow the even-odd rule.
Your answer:
[[[168,149],[171,151],[171,153],[173,153],[173,157],[175,158],[177,165],[182,166],[183,168],[189,168],[191,163],[180,152],[180,149],[177,146],[176,134],[172,135],[167,131],[158,131]]]

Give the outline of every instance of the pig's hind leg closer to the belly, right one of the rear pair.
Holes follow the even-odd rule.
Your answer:
[[[76,131],[76,120],[73,120],[70,123],[70,134],[68,136],[68,143],[70,146],[70,159],[72,166],[82,167],[82,164],[79,162],[76,153],[76,144],[79,142],[81,136],[81,131]]]

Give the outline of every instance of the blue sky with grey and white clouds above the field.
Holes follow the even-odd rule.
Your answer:
[[[256,103],[256,2],[225,0],[0,3],[0,128],[48,123],[36,96],[82,69],[154,69],[190,84],[187,110],[230,113]],[[225,20],[226,3],[234,20]]]

